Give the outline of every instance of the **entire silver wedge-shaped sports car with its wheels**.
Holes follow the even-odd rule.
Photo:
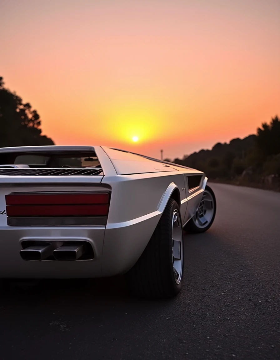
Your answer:
[[[140,297],[180,292],[183,229],[210,228],[201,171],[101,146],[0,148],[0,278],[125,274]]]

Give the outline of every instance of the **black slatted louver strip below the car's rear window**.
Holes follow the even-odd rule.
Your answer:
[[[59,175],[100,175],[101,167],[95,168],[29,168],[29,169],[11,169],[0,168],[0,176],[59,176]]]

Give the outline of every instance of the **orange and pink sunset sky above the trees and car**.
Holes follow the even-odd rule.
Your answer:
[[[173,159],[280,116],[279,0],[3,0],[0,16],[0,76],[56,144]]]

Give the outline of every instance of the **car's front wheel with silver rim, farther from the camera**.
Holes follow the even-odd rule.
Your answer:
[[[204,233],[213,224],[216,215],[216,197],[210,186],[206,185],[197,212],[184,226],[188,233]]]

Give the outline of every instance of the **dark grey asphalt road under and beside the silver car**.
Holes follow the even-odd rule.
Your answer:
[[[280,193],[212,187],[216,219],[185,236],[179,296],[135,300],[122,278],[10,283],[0,359],[279,359]]]

